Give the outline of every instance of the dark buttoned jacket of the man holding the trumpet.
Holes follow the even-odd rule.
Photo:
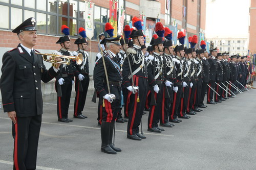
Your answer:
[[[32,58],[19,44],[3,56],[1,92],[4,112],[15,111],[19,117],[42,114],[41,80],[49,82],[58,74],[46,69],[41,55]]]

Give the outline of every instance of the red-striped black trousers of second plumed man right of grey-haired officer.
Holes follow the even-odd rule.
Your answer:
[[[155,128],[158,127],[160,114],[162,113],[162,101],[164,99],[163,95],[163,83],[158,84],[159,92],[156,93],[154,91],[155,99],[156,99],[156,105],[153,105],[150,107],[150,114],[148,114],[148,120],[147,120],[147,127],[148,128]]]

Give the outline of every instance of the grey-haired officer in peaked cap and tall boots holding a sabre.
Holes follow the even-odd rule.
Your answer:
[[[94,85],[102,105],[101,151],[107,154],[121,152],[112,143],[115,119],[121,105],[122,72],[116,56],[120,52],[120,38],[105,38],[109,53],[105,53],[94,67]]]

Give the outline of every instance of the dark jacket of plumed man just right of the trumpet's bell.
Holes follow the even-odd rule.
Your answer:
[[[82,64],[77,65],[76,62],[74,62],[74,67],[73,67],[73,71],[74,71],[74,75],[76,77],[78,77],[79,74],[83,74],[83,75],[89,75],[89,55],[86,51],[83,50],[78,50],[76,51],[78,54],[82,54]]]

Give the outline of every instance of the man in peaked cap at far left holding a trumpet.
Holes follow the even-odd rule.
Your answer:
[[[12,32],[20,44],[3,56],[1,93],[4,112],[12,120],[14,138],[13,169],[36,169],[41,126],[41,81],[56,77],[60,64],[46,69],[36,45],[35,18],[28,18]],[[61,61],[61,59],[55,59]]]

